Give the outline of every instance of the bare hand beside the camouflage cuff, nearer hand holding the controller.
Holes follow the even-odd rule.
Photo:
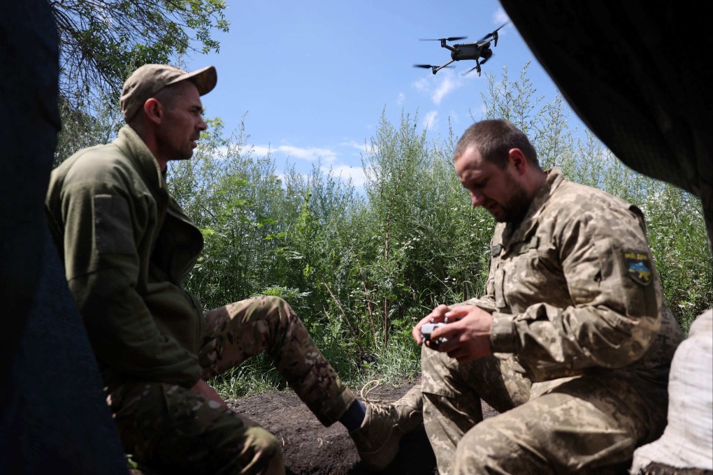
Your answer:
[[[493,354],[491,328],[493,315],[473,305],[454,306],[443,315],[448,325],[436,328],[431,339],[445,338],[438,351],[458,362],[477,360]]]

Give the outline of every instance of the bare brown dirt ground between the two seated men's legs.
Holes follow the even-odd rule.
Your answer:
[[[380,385],[369,393],[370,399],[396,400],[411,389],[413,383],[400,387]],[[359,388],[360,389],[360,388]],[[284,464],[290,475],[362,475],[369,472],[359,462],[359,454],[347,429],[342,424],[323,427],[312,412],[293,392],[270,392],[242,400],[230,401],[236,412],[275,434],[282,444]],[[491,417],[495,409],[485,404],[483,415]],[[436,458],[423,425],[401,439],[399,455],[387,475],[438,474]]]

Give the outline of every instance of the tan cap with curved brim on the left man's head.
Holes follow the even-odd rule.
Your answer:
[[[121,91],[121,114],[126,122],[143,108],[143,104],[167,85],[191,80],[204,95],[215,88],[218,77],[215,66],[206,66],[193,73],[186,73],[165,64],[145,64],[134,71],[124,83]]]

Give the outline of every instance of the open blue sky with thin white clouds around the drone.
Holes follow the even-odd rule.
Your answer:
[[[207,117],[220,117],[227,132],[244,114],[255,156],[272,151],[277,172],[289,160],[307,172],[325,169],[363,180],[364,143],[374,136],[382,110],[398,126],[401,113],[418,114],[429,137],[456,135],[481,117],[486,73],[515,80],[531,61],[528,78],[537,95],[552,100],[557,89],[513,24],[498,33],[483,75],[474,61],[438,71],[450,51],[419,38],[468,36],[476,41],[508,21],[497,0],[228,0],[229,33],[215,33],[220,53],[194,55],[185,67],[214,65],[218,83],[202,98]],[[457,43],[457,42],[451,42]],[[574,116],[573,116],[574,117]]]

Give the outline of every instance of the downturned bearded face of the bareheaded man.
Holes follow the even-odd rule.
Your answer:
[[[471,192],[474,207],[483,207],[498,222],[519,222],[532,201],[518,180],[512,162],[500,169],[483,159],[476,147],[470,147],[455,163],[458,179]]]

